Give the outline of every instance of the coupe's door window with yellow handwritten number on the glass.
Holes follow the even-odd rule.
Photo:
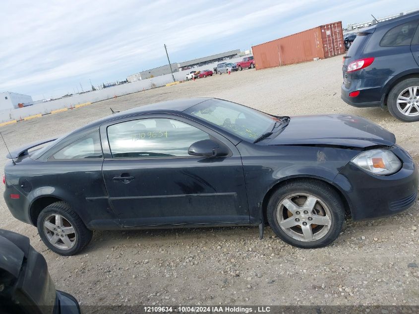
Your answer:
[[[194,142],[208,133],[186,123],[166,119],[141,119],[108,126],[114,158],[185,157]]]

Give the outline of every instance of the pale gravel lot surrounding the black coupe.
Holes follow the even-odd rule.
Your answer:
[[[402,123],[379,108],[357,109],[340,99],[341,57],[243,70],[156,88],[4,126],[16,148],[65,133],[111,113],[148,103],[219,97],[279,115],[348,113],[396,134],[419,161],[419,123]],[[6,155],[0,144],[0,156]],[[1,158],[4,166],[6,159]],[[0,200],[0,228],[31,239],[57,289],[83,305],[419,305],[419,202],[398,216],[348,221],[333,245],[292,248],[270,228],[95,232],[81,254],[59,256],[35,227],[15,220]]]

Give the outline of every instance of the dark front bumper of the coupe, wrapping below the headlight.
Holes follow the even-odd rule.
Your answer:
[[[373,219],[397,214],[411,207],[418,197],[418,167],[401,147],[390,148],[403,162],[390,176],[367,173],[349,163],[333,180],[348,200],[352,219]]]

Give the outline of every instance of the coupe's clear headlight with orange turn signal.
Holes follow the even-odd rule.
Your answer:
[[[386,149],[364,151],[352,159],[352,162],[375,175],[391,175],[402,168],[399,158]]]

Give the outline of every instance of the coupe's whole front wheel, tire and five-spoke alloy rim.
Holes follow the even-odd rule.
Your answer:
[[[342,230],[345,209],[338,193],[320,181],[285,183],[271,196],[267,217],[284,242],[303,249],[332,243]]]

